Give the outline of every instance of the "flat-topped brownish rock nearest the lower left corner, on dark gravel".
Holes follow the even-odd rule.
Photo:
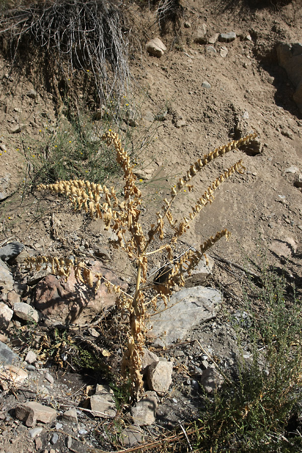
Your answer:
[[[15,408],[16,417],[22,420],[26,426],[34,426],[37,421],[51,423],[56,419],[57,413],[48,406],[43,406],[36,401],[21,404]]]

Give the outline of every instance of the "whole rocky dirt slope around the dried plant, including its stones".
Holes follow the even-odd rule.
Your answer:
[[[134,120],[125,118],[121,133],[126,138],[130,130],[139,140],[155,131],[143,154],[135,156],[144,193],[143,226],[154,219],[184,169],[216,146],[256,131],[256,147],[215,161],[196,178],[193,192],[184,192],[175,205],[175,213],[184,214],[220,172],[243,159],[246,172],[219,188],[177,252],[197,247],[222,228],[231,230],[232,238],[211,250],[210,263],[203,263],[193,283],[187,282],[184,291],[189,292],[175,291],[171,308],[150,318],[147,393],[130,409],[127,386],[119,387],[116,378],[127,320],[114,308],[113,295],[101,285],[95,296],[72,275],[65,282],[46,276],[44,269],[30,271],[24,259],[72,254],[127,291],[135,269],[108,244],[112,233],[104,232],[101,220],[74,213],[62,198],[28,190],[34,177],[28,153],[34,155],[42,136],[55,131],[56,106],[49,93],[11,73],[2,59],[0,453],[110,451],[122,443],[157,439],[198,415],[204,392],[210,395],[230,379],[239,354],[249,360],[246,276],[258,274],[264,264],[284,268],[299,295],[299,2],[279,11],[186,2],[176,32],[167,33],[161,33],[152,13],[142,15],[135,4],[131,8],[143,51],[131,63],[135,96],[126,99]],[[153,38],[164,46],[154,50],[150,43],[147,52],[145,45]],[[155,51],[158,56],[152,55]],[[98,124],[93,127],[97,133]],[[152,259],[150,274],[163,260]],[[181,306],[178,294],[188,306]],[[253,304],[261,315],[261,306]]]

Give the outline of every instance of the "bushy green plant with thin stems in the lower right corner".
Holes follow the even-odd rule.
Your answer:
[[[264,269],[258,306],[249,328],[252,362],[238,363],[234,385],[223,386],[197,423],[200,451],[231,453],[293,452],[302,445],[298,431],[288,434],[294,411],[301,411],[301,307],[285,298],[285,281]],[[261,360],[260,360],[261,359]]]

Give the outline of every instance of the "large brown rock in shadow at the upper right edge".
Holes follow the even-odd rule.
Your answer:
[[[280,44],[277,46],[278,63],[286,70],[296,91],[293,100],[302,113],[302,44]]]

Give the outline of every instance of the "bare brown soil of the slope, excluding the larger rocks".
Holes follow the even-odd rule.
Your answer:
[[[154,220],[154,213],[170,187],[203,154],[250,130],[257,131],[262,144],[258,154],[249,149],[234,151],[213,162],[195,178],[193,192],[182,193],[174,206],[175,212],[183,215],[191,200],[203,193],[213,179],[239,159],[243,160],[245,173],[234,175],[219,188],[215,201],[200,214],[177,250],[182,253],[190,246],[197,247],[222,228],[232,232],[229,242],[222,239],[210,253],[214,267],[206,284],[222,291],[220,311],[214,319],[191,329],[180,342],[165,348],[161,344],[158,349],[151,347],[159,356],[173,359],[174,369],[169,392],[160,398],[156,422],[142,428],[143,438],[150,440],[179,420],[188,421],[198,415],[202,408],[200,375],[202,369],[212,364],[204,350],[223,372],[232,370],[236,362],[239,352],[234,326],[238,313],[244,311],[245,274],[221,259],[255,271],[252,263],[261,264],[259,260],[265,256],[269,267],[285,267],[286,277],[295,284],[299,294],[302,193],[294,182],[302,173],[302,119],[292,99],[295,89],[278,65],[275,49],[280,42],[302,42],[302,9],[298,1],[278,12],[266,8],[246,12],[240,5],[223,9],[217,1],[188,1],[183,5],[177,30],[179,44],[173,45],[175,34],[161,35],[151,13],[142,14],[135,4],[131,8],[135,26],[147,30],[140,34],[142,48],[150,38],[159,36],[167,47],[161,58],[143,51],[135,54],[131,63],[133,91],[137,97],[136,100],[129,97],[129,102],[134,110],[141,105],[134,136],[152,126],[157,115],[164,114],[156,122],[157,138],[154,137],[138,159],[137,172],[141,172],[145,194],[143,225],[147,228]],[[194,33],[204,23],[208,37],[235,32],[236,38],[232,42],[216,41],[211,44],[215,52],[208,51],[207,44],[194,42]],[[28,143],[38,142],[42,130],[55,129],[57,118],[52,96],[26,78],[9,74],[8,67],[2,60],[0,192],[4,201],[0,206],[0,243],[17,241],[25,245],[27,253],[65,256],[72,252],[86,260],[95,260],[96,251],[101,248],[102,254],[98,253],[102,258],[98,259],[107,258],[102,263],[131,287],[135,269],[122,253],[110,248],[100,221],[90,222],[81,213],[74,213],[60,198],[48,197],[47,201],[40,194],[21,193],[27,167],[24,148]],[[29,95],[33,89],[38,93],[34,98]],[[141,97],[143,102],[138,100]],[[23,124],[21,130],[13,132],[20,124]],[[12,197],[6,198],[11,194]],[[155,258],[150,267],[156,270],[162,264],[161,257]],[[25,285],[22,300],[32,303],[35,285],[45,275],[39,275],[36,280],[31,276],[29,283],[28,272],[20,263],[9,266],[15,282]],[[262,315],[261,307],[255,305],[254,309]],[[83,325],[69,327],[64,338],[60,330],[59,338],[55,336],[55,326],[47,323],[28,326],[13,317],[0,340],[23,360],[29,349],[34,349],[38,357],[27,369],[28,380],[21,387],[11,383],[1,393],[0,453],[115,449],[119,433],[130,423],[127,408],[118,409],[117,423],[113,424],[94,417],[89,406],[94,386],[110,384],[110,373],[118,372],[122,356],[125,324],[115,319],[114,311],[109,313],[110,322],[103,315],[96,323],[90,323],[87,314]],[[84,349],[100,355],[109,351],[97,374],[91,369],[83,373],[74,371],[77,367],[70,357],[77,353],[71,351],[68,337],[75,336]],[[71,365],[68,371],[57,368],[54,360],[39,356],[40,346],[34,344],[36,337],[43,341],[48,337],[53,345],[65,342]],[[249,345],[243,342],[243,348],[248,358]],[[64,351],[60,346],[53,347],[53,354],[57,352],[57,358],[62,361],[60,354],[64,356]],[[54,408],[56,419],[48,423],[37,421],[35,427],[26,426],[16,418],[14,409],[27,401]],[[76,408],[76,416],[64,418],[64,412],[72,407]],[[120,414],[123,416],[119,418]],[[36,427],[42,428],[40,432],[32,431]],[[53,437],[54,434],[57,436]]]

